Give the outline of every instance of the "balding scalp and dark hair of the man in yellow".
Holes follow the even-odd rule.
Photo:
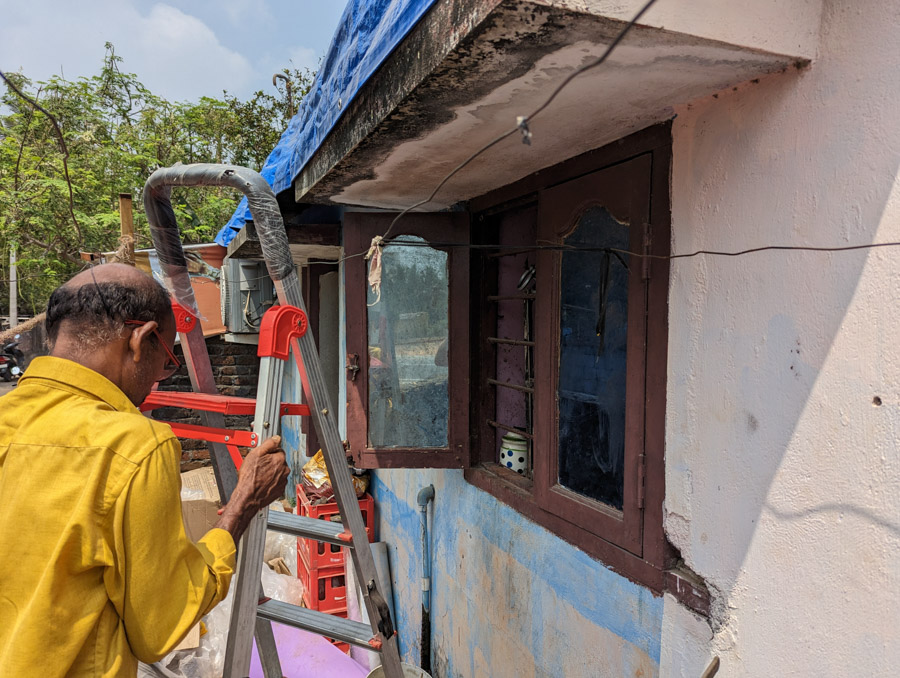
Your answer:
[[[121,337],[126,320],[170,325],[168,294],[132,266],[104,264],[82,271],[53,292],[45,324],[51,346],[62,331],[85,349],[96,349]]]

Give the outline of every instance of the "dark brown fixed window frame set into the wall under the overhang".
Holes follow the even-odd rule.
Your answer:
[[[565,184],[572,185],[572,182],[577,182],[582,177],[621,166],[640,156],[647,156],[651,162],[648,224],[651,226],[652,239],[647,244],[646,251],[659,256],[668,255],[671,228],[669,200],[671,131],[668,124],[657,125],[635,133],[613,144],[577,156],[472,200],[469,206],[475,215],[473,239],[476,242],[481,240],[490,242],[493,235],[490,233],[490,228],[485,229],[485,232],[479,232],[479,225],[489,225],[492,217],[506,210],[521,208],[529,204],[540,204],[539,197],[542,191],[553,191],[555,187]],[[568,205],[567,211],[570,211],[571,207]],[[577,209],[571,211],[577,211]],[[540,233],[540,215],[538,219],[538,232]],[[557,233],[558,235],[560,234]],[[553,259],[558,261],[558,253],[551,251],[542,251],[538,257],[539,262],[543,258],[545,271],[548,265],[554,266]],[[646,267],[646,273],[649,275],[646,317],[649,321],[645,333],[646,364],[642,374],[632,374],[629,362],[629,379],[633,379],[635,376],[644,379],[644,388],[642,389],[643,458],[640,460],[643,465],[641,474],[643,498],[638,532],[635,532],[635,524],[632,521],[629,526],[630,533],[623,535],[623,538],[619,540],[610,538],[610,535],[614,534],[610,528],[612,527],[614,530],[612,524],[617,520],[621,521],[621,513],[614,509],[604,511],[603,507],[597,505],[597,502],[582,500],[574,496],[574,493],[555,487],[555,483],[550,482],[554,473],[551,461],[555,459],[556,455],[548,452],[556,449],[554,444],[555,426],[544,427],[543,437],[535,440],[534,481],[501,467],[493,458],[494,430],[483,423],[491,418],[491,397],[478,383],[478,375],[488,374],[490,370],[490,358],[487,357],[489,351],[483,342],[483,338],[488,332],[481,327],[481,323],[490,323],[492,319],[489,313],[482,313],[482,309],[478,308],[477,303],[474,303],[475,300],[484,299],[491,294],[488,282],[490,275],[485,271],[484,261],[485,259],[480,257],[477,250],[473,252],[471,350],[475,356],[475,364],[473,364],[471,396],[474,414],[472,418],[472,466],[465,471],[466,479],[630,579],[656,592],[672,588],[671,583],[667,584],[667,581],[672,580],[672,575],[669,573],[667,577],[666,570],[673,563],[675,554],[665,538],[662,509],[665,495],[668,260],[654,259]],[[545,286],[546,289],[548,289],[547,286]],[[540,287],[538,294],[540,299]],[[545,294],[551,293],[545,292]],[[544,299],[543,308],[545,310],[547,308],[554,309],[557,306],[558,304],[548,305],[548,300]],[[558,313],[558,311],[556,312]],[[536,315],[541,318],[540,311],[536,310]],[[629,315],[629,323],[631,321],[632,318]],[[543,322],[538,324],[539,331],[543,324]],[[544,332],[549,331],[548,328],[557,327],[556,322],[546,324],[547,328],[544,329]],[[630,341],[631,338],[629,338]],[[537,362],[545,366],[553,364],[556,353],[554,350],[550,350],[550,346],[555,345],[556,342],[547,341],[546,336],[542,339],[539,335],[537,343],[537,351],[545,351],[543,358]],[[546,375],[536,381],[540,382],[541,379],[546,381]],[[555,411],[555,380],[549,388],[545,386],[538,390],[535,397],[536,411],[546,412],[549,411],[548,407],[552,407]],[[541,435],[537,430],[536,434]],[[632,490],[635,491],[636,487]],[[610,522],[610,525],[606,526],[606,530],[597,529],[596,525],[592,524],[592,520],[602,516],[604,512],[608,514],[605,520]],[[588,525],[591,525],[593,529],[589,529]],[[605,538],[599,536],[598,532],[605,532]],[[692,605],[692,607],[696,609],[698,606]]]

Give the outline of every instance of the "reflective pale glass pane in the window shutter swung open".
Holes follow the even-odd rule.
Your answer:
[[[382,259],[368,293],[369,446],[447,447],[447,253],[413,236]]]

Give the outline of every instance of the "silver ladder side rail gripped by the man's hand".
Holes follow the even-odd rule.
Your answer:
[[[256,414],[253,417],[253,432],[259,440],[278,435],[283,378],[284,361],[274,357],[260,359]],[[256,616],[256,606],[263,595],[261,577],[268,519],[269,508],[266,506],[254,516],[238,549],[237,573],[232,580],[234,605],[225,646],[225,678],[243,678],[250,674],[254,631],[266,678],[281,678],[282,675],[274,636],[271,635],[271,622]],[[264,637],[271,637],[271,642],[263,641]]]

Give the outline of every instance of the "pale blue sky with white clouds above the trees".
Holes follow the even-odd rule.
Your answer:
[[[0,0],[0,70],[93,75],[112,42],[172,100],[246,97],[293,63],[315,69],[346,0]]]

